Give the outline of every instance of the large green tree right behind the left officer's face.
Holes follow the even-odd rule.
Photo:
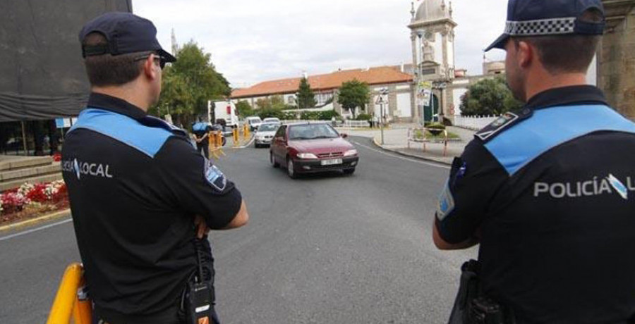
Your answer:
[[[188,127],[196,116],[207,113],[207,101],[231,94],[229,82],[218,73],[211,54],[191,41],[176,53],[176,62],[163,70],[159,103],[150,109],[155,116],[170,113],[175,123]]]

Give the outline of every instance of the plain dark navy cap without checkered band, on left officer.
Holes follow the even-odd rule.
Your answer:
[[[142,51],[156,51],[165,62],[176,58],[164,51],[157,40],[157,28],[150,20],[132,13],[111,12],[90,20],[79,34],[83,43],[86,35],[99,32],[108,40],[107,45],[82,46],[82,56],[103,54],[119,55]]]

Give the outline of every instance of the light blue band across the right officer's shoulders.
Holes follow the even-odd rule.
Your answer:
[[[511,176],[553,147],[598,131],[635,133],[635,124],[603,105],[538,109],[528,120],[486,143],[485,148]]]

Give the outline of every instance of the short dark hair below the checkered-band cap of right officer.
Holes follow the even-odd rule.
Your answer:
[[[591,8],[582,13],[579,20],[586,23],[600,23],[604,19],[601,11]],[[538,51],[540,63],[555,75],[557,73],[586,73],[593,61],[600,42],[598,35],[555,35],[512,37],[516,47],[519,42],[527,42]]]

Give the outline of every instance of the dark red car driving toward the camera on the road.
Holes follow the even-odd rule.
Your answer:
[[[327,123],[297,123],[278,128],[271,143],[271,165],[286,167],[289,177],[300,173],[342,170],[353,174],[357,150]]]

